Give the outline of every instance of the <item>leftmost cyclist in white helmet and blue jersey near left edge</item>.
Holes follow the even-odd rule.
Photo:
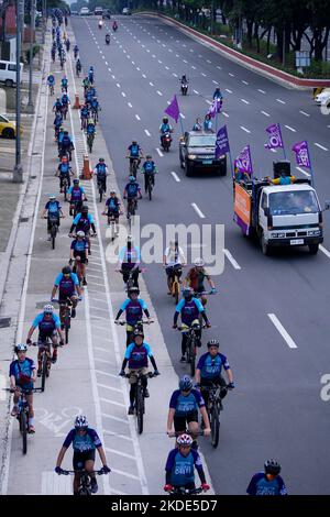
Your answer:
[[[34,411],[33,411],[33,384],[35,383],[35,364],[32,359],[26,358],[28,346],[26,344],[16,344],[14,349],[18,354],[18,359],[12,361],[9,367],[10,388],[14,391],[13,396],[13,408],[11,411],[12,417],[16,417],[19,414],[18,402],[20,398],[20,388],[29,391],[25,393],[25,399],[29,405],[29,429],[28,431],[35,432],[33,426]]]

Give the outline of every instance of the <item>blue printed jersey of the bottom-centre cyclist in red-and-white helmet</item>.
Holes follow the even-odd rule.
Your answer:
[[[167,458],[165,471],[170,472],[173,486],[185,486],[195,483],[195,466],[202,469],[200,455],[194,449],[184,457],[178,449],[173,449]]]

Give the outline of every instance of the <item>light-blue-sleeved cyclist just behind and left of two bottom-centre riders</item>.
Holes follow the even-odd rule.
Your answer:
[[[153,355],[153,352],[150,345],[144,341],[144,333],[143,331],[136,329],[133,333],[133,341],[130,341],[130,345],[127,348],[124,360],[122,362],[121,371],[119,375],[125,375],[125,367],[129,363],[129,374],[130,374],[130,407],[129,407],[129,415],[134,415],[134,402],[136,398],[136,383],[138,383],[138,375],[142,373],[144,375],[142,380],[143,388],[144,388],[144,397],[147,398],[148,391],[147,391],[147,366],[150,358],[151,363],[154,367],[154,374],[160,375],[157,370],[156,361]]]

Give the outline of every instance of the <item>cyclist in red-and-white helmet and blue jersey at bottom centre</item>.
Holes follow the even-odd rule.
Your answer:
[[[198,472],[201,488],[209,491],[210,486],[206,482],[206,476],[200,455],[194,449],[193,438],[189,435],[180,435],[176,440],[177,447],[173,449],[166,461],[165,492],[172,492],[174,488],[186,488],[194,491],[195,469]]]

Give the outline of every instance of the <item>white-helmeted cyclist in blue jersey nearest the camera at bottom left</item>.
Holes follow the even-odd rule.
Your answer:
[[[63,442],[62,449],[58,453],[55,472],[56,474],[63,474],[65,471],[61,469],[64,455],[67,449],[73,444],[74,458],[73,465],[75,471],[86,470],[90,476],[90,485],[92,494],[98,492],[98,483],[94,473],[95,464],[95,450],[97,449],[100,460],[102,462],[102,472],[109,474],[110,469],[107,465],[106,453],[95,429],[88,426],[87,418],[82,415],[78,415],[75,419],[75,427],[69,431],[66,439]],[[74,495],[78,495],[80,482],[80,473],[75,472],[74,477]]]

